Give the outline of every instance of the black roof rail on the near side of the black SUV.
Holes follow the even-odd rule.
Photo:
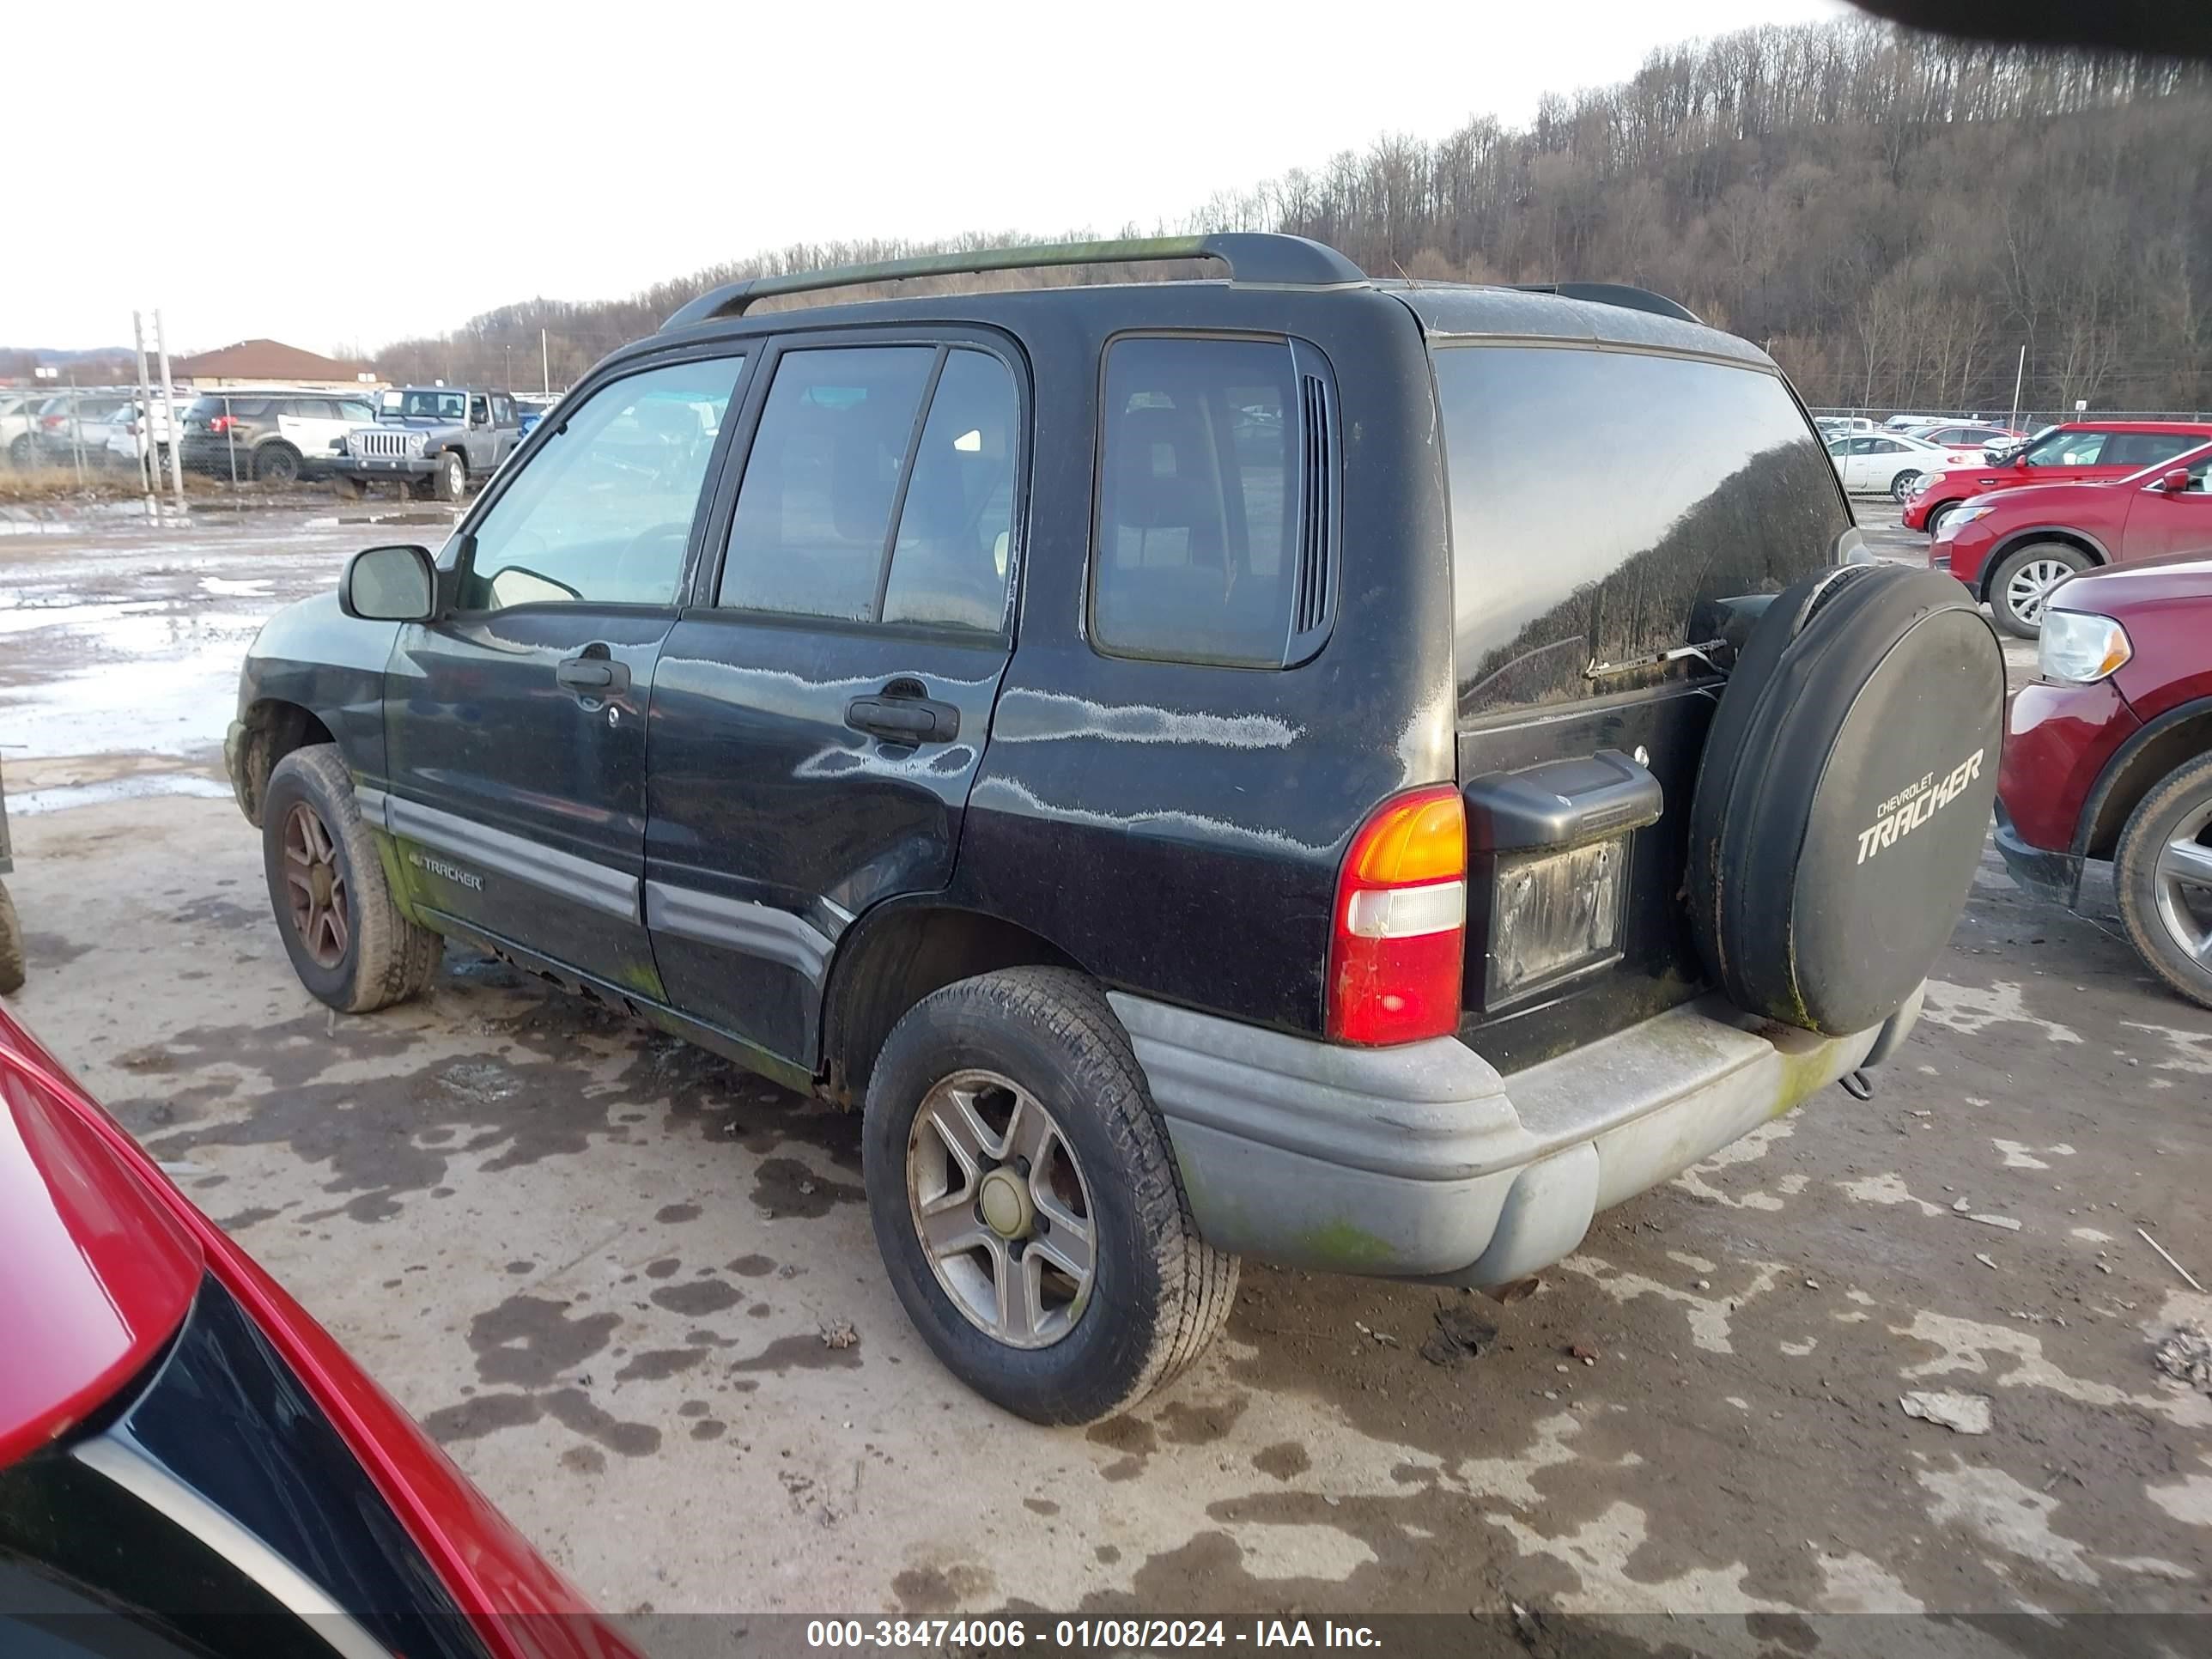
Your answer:
[[[905,276],[969,276],[984,270],[1042,270],[1046,265],[1124,265],[1161,259],[1219,259],[1230,281],[1267,288],[1347,288],[1367,272],[1334,248],[1267,230],[1217,230],[1203,237],[1135,237],[1128,241],[1037,241],[1024,248],[975,248],[960,254],[918,254],[869,265],[794,270],[783,276],[748,276],[710,288],[666,323],[661,334],[717,316],[743,316],[757,299],[812,294],[823,288],[889,283]]]

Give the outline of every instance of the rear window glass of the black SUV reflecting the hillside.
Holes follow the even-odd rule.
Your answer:
[[[1701,602],[1836,557],[1836,469],[1765,369],[1639,352],[1436,352],[1460,717],[1648,684]],[[1679,670],[1677,670],[1679,672]]]

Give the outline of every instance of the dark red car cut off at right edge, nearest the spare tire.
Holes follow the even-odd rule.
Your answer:
[[[2044,613],[2042,679],[2013,697],[1997,852],[2073,907],[2112,860],[2137,953],[2212,1006],[2212,560],[2075,577]]]

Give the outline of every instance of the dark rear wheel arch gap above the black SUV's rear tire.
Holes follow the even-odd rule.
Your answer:
[[[1082,962],[1002,916],[938,896],[869,909],[838,940],[823,989],[821,1064],[825,1093],[856,1106],[891,1026],[931,991],[1011,967]]]

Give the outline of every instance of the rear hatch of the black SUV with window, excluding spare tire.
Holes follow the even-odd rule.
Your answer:
[[[1431,323],[1469,803],[1462,1042],[1504,1071],[1705,989],[1690,796],[1712,641],[1840,555],[1849,507],[1781,374],[1564,299],[1553,338]]]

